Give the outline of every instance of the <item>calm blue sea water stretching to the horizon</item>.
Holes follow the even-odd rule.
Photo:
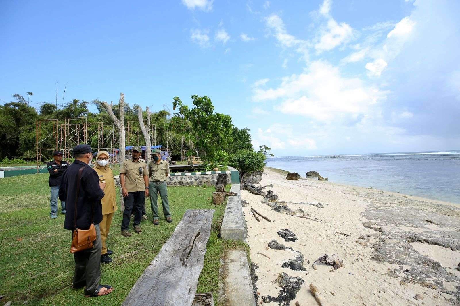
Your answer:
[[[329,181],[460,204],[460,150],[273,157],[268,167],[318,171]]]

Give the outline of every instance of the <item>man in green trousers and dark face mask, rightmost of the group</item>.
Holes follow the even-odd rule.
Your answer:
[[[169,164],[161,159],[160,150],[153,149],[151,153],[153,160],[149,163],[150,171],[150,206],[153,212],[153,224],[158,225],[158,193],[160,193],[161,204],[163,204],[163,215],[166,221],[173,222],[169,212],[168,192],[166,189],[166,177],[169,174]]]

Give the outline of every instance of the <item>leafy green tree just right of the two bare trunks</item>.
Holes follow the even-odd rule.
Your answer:
[[[204,167],[209,170],[219,163],[220,151],[232,141],[231,117],[222,113],[214,113],[214,106],[207,96],[191,96],[193,108],[184,105],[179,97],[174,98],[173,110],[178,108],[171,118],[170,127],[173,131],[183,134],[192,140]],[[188,155],[193,156],[189,151]]]

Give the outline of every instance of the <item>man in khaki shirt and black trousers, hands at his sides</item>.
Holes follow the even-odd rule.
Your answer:
[[[132,147],[132,158],[125,160],[120,169],[121,193],[125,198],[121,234],[125,237],[131,236],[128,231],[131,212],[134,213],[134,231],[141,232],[142,206],[149,195],[149,170],[144,159],[139,158],[141,153],[141,147]]]

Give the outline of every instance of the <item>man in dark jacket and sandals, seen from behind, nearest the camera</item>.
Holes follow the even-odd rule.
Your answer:
[[[75,252],[75,272],[73,288],[85,288],[86,296],[107,295],[113,288],[109,285],[100,285],[101,278],[101,232],[99,223],[102,221],[101,198],[104,197],[105,182],[99,182],[99,177],[89,164],[92,160],[92,149],[86,144],[81,144],[73,149],[75,162],[64,173],[59,199],[65,201],[67,213],[64,219],[64,228],[86,230],[91,223],[96,228],[96,240],[93,241],[92,249]],[[78,172],[81,172],[80,180]],[[77,187],[79,186],[78,198]],[[74,219],[76,214],[76,218]],[[74,221],[76,220],[75,224]]]

